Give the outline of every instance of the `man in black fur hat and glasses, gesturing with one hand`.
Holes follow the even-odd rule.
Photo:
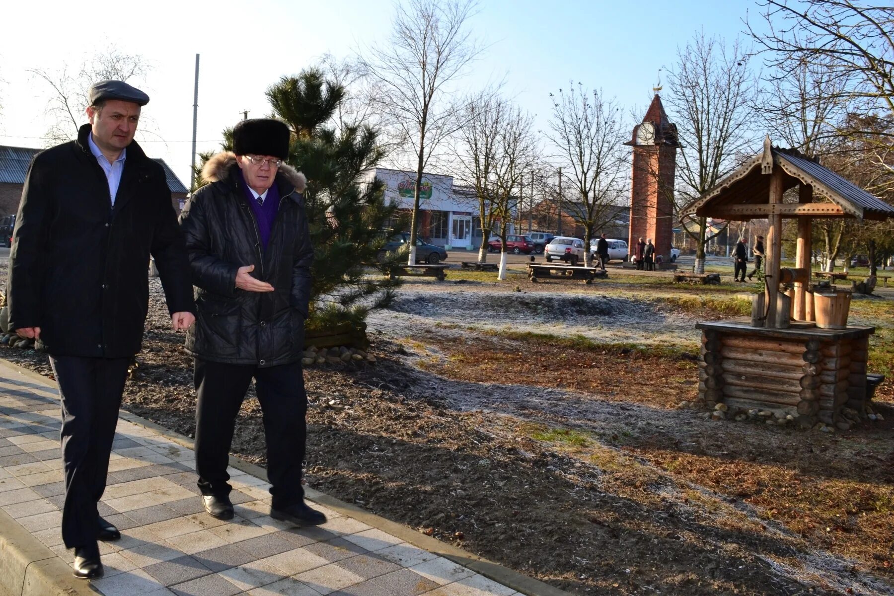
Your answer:
[[[284,160],[290,131],[271,119],[242,121],[233,153],[208,160],[206,186],[181,214],[198,287],[196,324],[186,348],[195,357],[196,471],[208,514],[231,519],[233,426],[252,379],[267,444],[270,515],[319,525],[301,488],[307,395],[300,357],[310,297],[305,178]]]

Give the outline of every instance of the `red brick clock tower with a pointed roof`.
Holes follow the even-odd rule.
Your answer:
[[[656,89],[657,90],[657,89]],[[677,169],[677,125],[668,121],[655,94],[643,122],[633,127],[633,176],[630,183],[630,254],[639,237],[652,239],[655,256],[671,262],[674,173]]]

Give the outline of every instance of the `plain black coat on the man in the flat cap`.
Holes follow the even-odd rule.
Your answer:
[[[168,309],[194,312],[189,268],[164,169],[127,147],[114,208],[105,172],[78,140],[35,155],[9,260],[10,328],[40,327],[53,356],[131,357],[148,308],[149,255]]]

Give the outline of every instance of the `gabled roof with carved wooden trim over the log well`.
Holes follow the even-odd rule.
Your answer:
[[[881,198],[873,196],[838,173],[823,167],[818,161],[801,155],[795,149],[772,147],[769,138],[763,141],[763,153],[755,155],[738,170],[718,182],[713,189],[684,208],[682,214],[723,216],[724,207],[766,205],[771,180],[771,176],[767,174],[776,167],[781,168],[783,172],[783,190],[791,189],[799,183],[808,184],[813,187],[815,197],[828,199],[832,204],[841,207],[847,216],[876,220],[894,217],[894,207]],[[741,212],[740,214],[735,219],[748,220],[766,216]]]

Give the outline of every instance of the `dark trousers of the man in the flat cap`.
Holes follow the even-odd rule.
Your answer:
[[[97,540],[97,503],[105,491],[129,364],[130,358],[50,357],[62,398],[62,539],[66,548]]]

